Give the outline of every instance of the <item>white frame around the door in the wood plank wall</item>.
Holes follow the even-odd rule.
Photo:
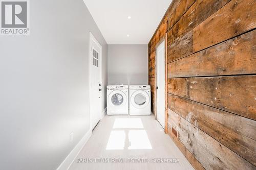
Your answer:
[[[164,48],[164,66],[166,67],[166,40],[165,39],[163,39],[163,41],[160,41],[161,43],[159,43],[159,45],[156,47],[156,119],[158,120],[158,113],[157,113],[157,108],[159,107],[157,104],[158,104],[158,99],[157,99],[157,96],[158,96],[158,90],[157,90],[157,87],[159,86],[159,84],[158,84],[158,72],[159,72],[159,67],[158,67],[158,63],[159,63],[159,58],[158,58],[158,55],[157,55],[157,49],[161,46],[161,45],[163,45],[163,48]],[[166,103],[166,68],[164,68],[164,84],[162,85],[163,87],[164,87],[164,102]],[[166,112],[166,105],[164,105],[164,124],[162,125],[160,122],[159,122],[159,120],[158,120],[158,122],[160,123],[160,125],[161,126],[163,126],[163,129],[165,130],[166,129],[166,123],[165,123],[165,119],[166,119],[166,114],[165,114],[165,112]]]

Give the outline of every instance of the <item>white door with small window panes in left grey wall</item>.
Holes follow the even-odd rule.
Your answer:
[[[102,47],[90,33],[90,117],[91,129],[94,129],[101,117],[102,78],[101,78]]]

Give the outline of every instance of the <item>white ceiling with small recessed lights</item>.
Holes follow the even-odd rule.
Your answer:
[[[147,44],[172,2],[172,0],[83,1],[108,44]],[[132,18],[128,19],[128,16]]]

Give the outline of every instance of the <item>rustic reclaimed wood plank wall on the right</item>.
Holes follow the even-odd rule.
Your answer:
[[[196,169],[256,169],[255,28],[255,0],[174,0],[148,44],[156,114],[167,34],[167,133]]]

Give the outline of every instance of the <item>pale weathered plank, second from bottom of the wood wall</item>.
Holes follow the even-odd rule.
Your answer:
[[[179,140],[205,169],[255,169],[254,165],[174,111],[169,109],[168,114],[170,124],[179,133]]]

